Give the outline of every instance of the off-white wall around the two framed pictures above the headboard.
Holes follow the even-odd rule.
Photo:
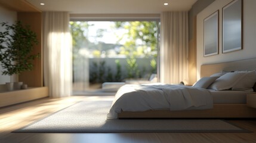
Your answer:
[[[256,57],[256,1],[243,0],[243,49],[222,53],[222,8],[233,0],[215,0],[197,15],[197,79],[202,64],[221,63]],[[219,10],[219,54],[203,57],[203,19]],[[255,67],[256,69],[256,67]]]

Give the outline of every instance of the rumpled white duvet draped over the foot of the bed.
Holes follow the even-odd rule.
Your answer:
[[[207,89],[184,85],[124,85],[115,95],[108,119],[121,111],[192,110],[213,107]]]

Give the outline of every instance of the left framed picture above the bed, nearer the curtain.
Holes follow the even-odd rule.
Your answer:
[[[203,21],[203,52],[204,57],[218,54],[218,11]]]

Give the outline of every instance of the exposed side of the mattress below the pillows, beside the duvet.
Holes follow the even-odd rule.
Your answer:
[[[245,104],[246,94],[251,91],[210,91],[215,104]]]

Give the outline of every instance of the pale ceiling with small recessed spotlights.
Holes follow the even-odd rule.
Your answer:
[[[72,14],[159,14],[189,11],[197,0],[26,0],[41,11]],[[45,5],[40,5],[44,2]],[[168,2],[168,5],[164,5]]]

